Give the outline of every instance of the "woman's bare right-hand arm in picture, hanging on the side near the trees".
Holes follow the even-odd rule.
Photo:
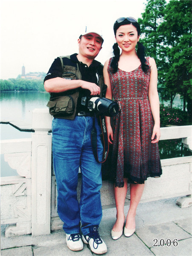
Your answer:
[[[157,67],[153,58],[149,58],[149,64],[151,66],[151,73],[148,87],[148,99],[151,105],[151,112],[154,119],[151,143],[157,143],[160,139],[160,108],[159,95],[157,92]]]

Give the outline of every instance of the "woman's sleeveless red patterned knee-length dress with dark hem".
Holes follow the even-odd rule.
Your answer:
[[[113,99],[119,104],[119,113],[111,118],[113,149],[111,169],[116,187],[128,183],[144,183],[148,177],[160,177],[162,168],[157,143],[151,143],[154,120],[148,101],[151,69],[143,72],[141,65],[126,72],[118,68],[108,73]],[[149,65],[149,57],[146,58]]]

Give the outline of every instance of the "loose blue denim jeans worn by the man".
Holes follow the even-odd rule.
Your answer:
[[[97,119],[99,160],[103,146]],[[67,234],[90,233],[102,218],[100,188],[101,164],[97,163],[91,147],[93,117],[76,116],[74,120],[54,118],[52,121],[52,155],[58,190],[58,215]],[[81,198],[77,200],[79,167],[81,169]]]

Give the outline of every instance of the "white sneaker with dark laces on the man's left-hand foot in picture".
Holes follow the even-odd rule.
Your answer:
[[[66,234],[67,247],[70,250],[83,250],[83,242],[80,234]]]

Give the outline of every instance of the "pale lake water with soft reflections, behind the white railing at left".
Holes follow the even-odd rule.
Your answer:
[[[39,92],[3,92],[1,97],[1,120],[24,120],[32,124],[32,111],[35,108],[47,108],[49,93]],[[31,138],[30,132],[21,132],[11,125],[0,125],[1,140]],[[1,154],[1,177],[17,175]]]

